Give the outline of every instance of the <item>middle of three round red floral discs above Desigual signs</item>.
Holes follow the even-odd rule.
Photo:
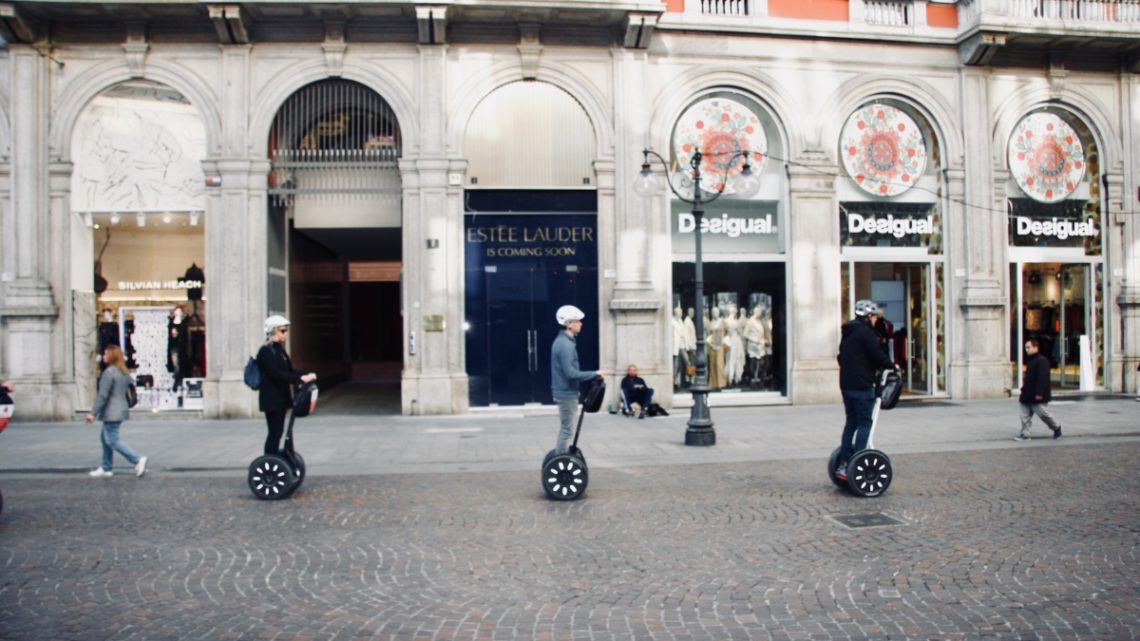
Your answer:
[[[926,140],[914,119],[876,103],[847,119],[840,138],[847,175],[876,196],[897,196],[926,171]]]

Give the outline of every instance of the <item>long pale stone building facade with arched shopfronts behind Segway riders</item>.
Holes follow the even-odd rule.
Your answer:
[[[1003,396],[1031,336],[1059,387],[1138,384],[1127,0],[0,13],[0,375],[24,416],[90,404],[104,330],[153,408],[251,415],[270,313],[323,376],[394,363],[405,414],[544,403],[563,302],[584,366],[637,364],[674,406],[690,308],[714,405],[826,403],[872,297],[913,395]],[[692,145],[724,192],[700,306]],[[635,194],[643,163],[663,176],[646,148],[675,194]],[[748,152],[757,196],[716,149]]]

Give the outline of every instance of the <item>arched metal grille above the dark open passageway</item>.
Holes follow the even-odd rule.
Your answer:
[[[400,128],[378,94],[341,79],[314,82],[282,105],[269,132],[269,195],[375,198],[400,194]]]

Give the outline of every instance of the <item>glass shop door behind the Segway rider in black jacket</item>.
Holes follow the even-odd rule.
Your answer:
[[[876,325],[882,350],[898,366],[905,391],[930,395],[935,378],[934,281],[929,262],[844,262],[842,299],[846,318],[855,301],[871,299],[882,307]]]

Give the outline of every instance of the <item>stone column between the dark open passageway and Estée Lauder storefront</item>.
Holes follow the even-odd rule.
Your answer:
[[[463,366],[463,198],[448,176],[445,84],[447,47],[420,46],[420,131],[400,161],[404,187],[405,414],[455,414],[469,403]]]

